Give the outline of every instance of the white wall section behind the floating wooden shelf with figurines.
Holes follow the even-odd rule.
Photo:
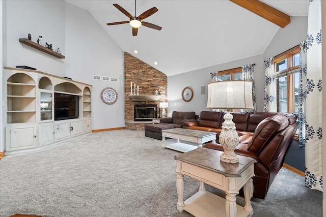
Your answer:
[[[8,67],[30,66],[53,75],[65,75],[65,59],[58,59],[19,43],[19,38],[59,47],[65,55],[65,2],[60,1],[7,1],[7,61]]]

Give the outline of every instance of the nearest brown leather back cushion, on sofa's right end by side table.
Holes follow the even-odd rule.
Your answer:
[[[288,118],[283,114],[266,117],[257,126],[248,150],[259,154],[269,141],[289,124]]]

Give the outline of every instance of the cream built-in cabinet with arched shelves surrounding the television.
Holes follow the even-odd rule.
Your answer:
[[[92,86],[44,72],[4,69],[6,152],[38,148],[92,131]],[[55,120],[54,95],[79,99],[79,116]]]

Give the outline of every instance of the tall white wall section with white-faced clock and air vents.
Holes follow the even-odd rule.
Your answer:
[[[118,78],[118,82],[93,80],[93,75]],[[93,85],[92,129],[124,127],[124,55],[94,17],[66,4],[66,76]],[[100,92],[113,87],[118,100],[104,104]]]

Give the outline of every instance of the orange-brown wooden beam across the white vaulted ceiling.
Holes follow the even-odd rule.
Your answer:
[[[290,16],[273,8],[269,5],[260,2],[259,0],[229,0],[242,8],[245,8],[262,18],[273,22],[274,24],[284,28],[289,24]]]

